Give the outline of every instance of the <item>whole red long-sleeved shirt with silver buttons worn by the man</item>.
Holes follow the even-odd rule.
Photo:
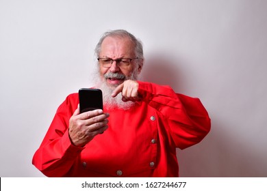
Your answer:
[[[138,101],[129,110],[112,110],[107,130],[85,147],[75,147],[68,123],[79,104],[77,93],[60,105],[36,151],[33,164],[49,177],[178,177],[176,148],[199,143],[210,130],[198,98],[170,87],[139,83]]]

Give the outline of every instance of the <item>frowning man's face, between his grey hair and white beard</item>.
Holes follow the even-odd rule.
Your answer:
[[[121,58],[130,58],[133,59],[136,57],[134,51],[134,45],[129,38],[116,38],[116,37],[107,37],[103,40],[101,44],[101,52],[99,53],[99,57],[108,58],[108,59],[121,59]],[[141,67],[137,66],[137,72],[140,73]],[[112,62],[110,68],[105,68],[101,63],[99,63],[99,72],[102,80],[109,87],[117,87],[121,83],[124,82],[125,78],[121,78],[118,76],[109,76],[105,77],[105,75],[109,73],[123,74],[126,78],[129,78],[131,74],[136,70],[136,66],[134,60],[131,61],[127,67],[120,67],[116,61]]]

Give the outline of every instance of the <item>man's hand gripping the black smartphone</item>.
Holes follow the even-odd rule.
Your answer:
[[[108,113],[101,109],[79,113],[79,106],[69,121],[68,134],[71,143],[77,147],[84,147],[94,136],[107,130]]]

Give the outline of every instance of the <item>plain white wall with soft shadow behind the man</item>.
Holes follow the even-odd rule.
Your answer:
[[[177,149],[181,177],[267,177],[267,1],[0,0],[0,176],[31,165],[59,104],[92,85],[109,29],[144,44],[142,80],[202,100],[212,131]]]

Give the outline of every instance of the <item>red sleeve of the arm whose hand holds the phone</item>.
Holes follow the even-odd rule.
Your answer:
[[[32,163],[48,177],[64,177],[83,150],[72,145],[68,137],[68,121],[74,110],[75,105],[72,106],[68,96],[59,106],[44,140],[34,154]]]

